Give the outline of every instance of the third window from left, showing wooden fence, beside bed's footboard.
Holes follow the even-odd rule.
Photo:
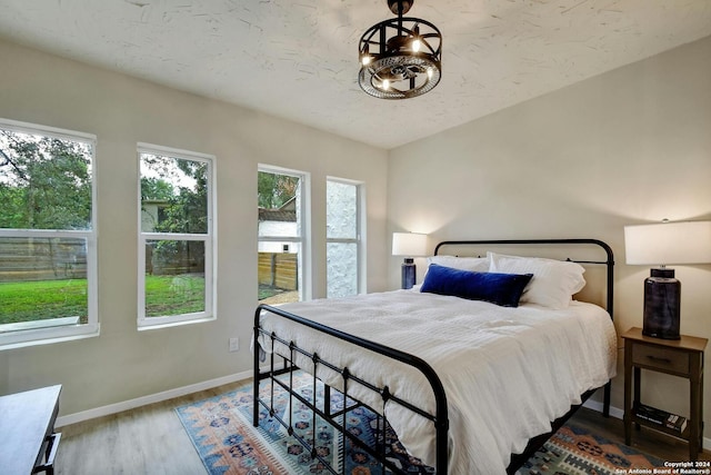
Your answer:
[[[307,175],[260,167],[259,208],[259,300],[282,304],[308,298],[304,289],[304,204]]]

